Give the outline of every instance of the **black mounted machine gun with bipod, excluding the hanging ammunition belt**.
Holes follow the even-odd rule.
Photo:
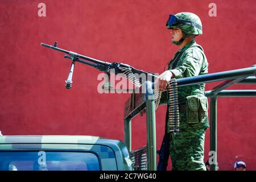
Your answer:
[[[75,62],[90,65],[94,68],[97,68],[99,71],[104,71],[108,76],[110,74],[110,70],[114,69],[115,75],[118,75],[121,73],[129,81],[131,81],[133,85],[135,85],[135,88],[136,87],[139,88],[142,85],[142,81],[139,80],[138,76],[136,76],[135,73],[137,73],[137,75],[145,74],[147,78],[148,77],[151,77],[151,78],[157,77],[155,75],[155,73],[144,72],[142,70],[135,69],[134,67],[131,67],[128,64],[117,63],[117,62],[108,63],[106,61],[93,59],[91,57],[80,55],[79,53],[76,53],[76,52],[67,51],[65,49],[58,48],[57,42],[55,42],[54,46],[49,46],[48,44],[45,44],[45,43],[41,43],[41,46],[55,49],[56,51],[64,52],[69,55],[69,56],[64,55],[64,58],[72,60],[71,69],[69,71],[68,78],[65,81],[66,82],[65,88],[67,88],[67,89],[71,89],[71,87],[72,87],[72,75],[73,75],[73,69],[75,67]],[[151,80],[152,80],[152,82],[154,82],[154,79],[151,79]]]

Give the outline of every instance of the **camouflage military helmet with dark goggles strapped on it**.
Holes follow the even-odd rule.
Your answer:
[[[183,12],[171,14],[166,26],[168,29],[180,28],[185,34],[202,35],[203,27],[199,16],[193,13]]]

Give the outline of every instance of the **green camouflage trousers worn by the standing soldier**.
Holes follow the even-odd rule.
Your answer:
[[[204,164],[205,129],[183,129],[170,134],[172,170],[206,171]]]

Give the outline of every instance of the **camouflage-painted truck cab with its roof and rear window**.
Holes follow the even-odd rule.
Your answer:
[[[121,140],[93,136],[0,136],[0,171],[133,171]]]

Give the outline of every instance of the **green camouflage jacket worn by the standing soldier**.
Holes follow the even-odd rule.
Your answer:
[[[179,53],[182,53],[182,55],[177,62],[176,67],[171,69],[175,62],[175,58],[179,55]],[[203,48],[199,44],[196,44],[195,40],[188,42],[183,48],[175,53],[174,58],[168,64],[168,69],[174,73],[175,78],[198,76],[208,73],[208,61],[204,54]],[[204,94],[205,84],[182,86],[178,88],[178,98],[180,103],[184,103],[185,101],[187,102],[187,105],[191,104],[190,106],[192,107],[195,106],[195,103],[199,103],[197,108],[199,110],[198,115],[193,115],[193,113],[195,113],[193,108],[191,108],[192,114],[189,113],[188,110],[186,113],[180,113],[180,129],[189,127],[209,127],[207,114],[208,101],[207,98],[204,97]],[[198,100],[195,100],[195,97],[191,98],[189,96],[198,96],[198,98],[196,97]],[[203,107],[204,110],[201,109],[200,111],[201,107]],[[203,114],[200,114],[200,112]],[[192,121],[192,119],[189,119],[191,117],[197,118],[197,121]]]

